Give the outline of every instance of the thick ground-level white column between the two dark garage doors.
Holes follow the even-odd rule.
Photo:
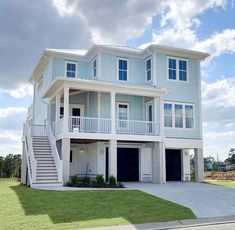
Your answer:
[[[152,164],[153,183],[166,183],[165,146],[163,142],[154,143]]]

